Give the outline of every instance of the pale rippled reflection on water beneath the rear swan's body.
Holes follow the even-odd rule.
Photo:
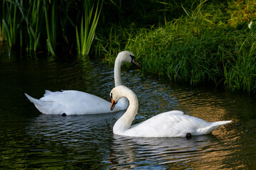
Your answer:
[[[122,116],[124,111],[116,113],[102,113],[95,115],[72,115],[62,117],[61,115],[44,115],[34,119],[26,128],[28,135],[34,139],[55,144],[66,143],[66,146],[83,145],[83,142],[92,139],[102,138],[106,133],[113,119]],[[111,136],[110,136],[111,137]]]

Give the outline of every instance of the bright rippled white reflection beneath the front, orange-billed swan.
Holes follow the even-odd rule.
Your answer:
[[[110,162],[113,169],[137,166],[154,167],[191,166],[188,162],[200,159],[201,154],[218,140],[213,135],[186,137],[123,137],[114,135]]]

